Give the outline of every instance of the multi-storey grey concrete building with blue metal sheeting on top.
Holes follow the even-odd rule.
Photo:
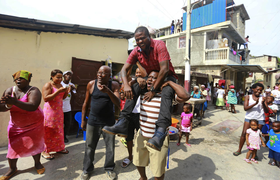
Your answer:
[[[238,50],[238,44],[245,43],[245,21],[250,18],[243,4],[234,5],[233,1],[207,0],[206,5],[198,3],[193,7],[191,71],[222,76],[222,79],[231,80],[236,88],[245,89],[248,72],[253,69],[260,73],[266,71],[260,66],[248,66],[249,49]],[[161,37],[155,38],[166,43],[172,64],[177,70],[185,69],[186,19],[184,13],[181,33],[170,35],[170,27],[164,27],[158,32]],[[238,52],[243,53],[243,57]],[[179,80],[184,78],[184,74],[179,74]],[[218,79],[215,80],[217,81]]]

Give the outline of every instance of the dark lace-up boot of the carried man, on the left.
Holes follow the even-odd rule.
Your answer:
[[[125,118],[119,119],[119,121],[113,126],[104,126],[102,131],[108,134],[120,135],[120,137],[127,137],[127,128],[129,121]]]

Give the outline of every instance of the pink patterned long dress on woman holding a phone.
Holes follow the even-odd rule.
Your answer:
[[[51,93],[57,91],[52,87]],[[64,93],[59,93],[53,100],[44,104],[45,123],[45,151],[58,152],[65,148],[63,132],[62,98]]]

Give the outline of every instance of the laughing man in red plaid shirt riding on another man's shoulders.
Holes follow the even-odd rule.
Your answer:
[[[121,69],[121,79],[124,83],[124,95],[127,98],[124,110],[121,111],[119,121],[114,126],[104,126],[102,129],[106,133],[118,134],[121,135],[121,137],[127,136],[130,114],[135,107],[139,95],[145,93],[143,100],[149,102],[165,80],[176,83],[178,79],[163,41],[152,39],[146,27],[138,27],[134,32],[134,37],[137,47],[130,53],[126,63]],[[127,73],[137,61],[139,61],[147,71],[147,74],[150,74],[153,70],[159,71],[156,83],[151,87],[150,91],[147,91],[147,76],[144,78],[136,78],[137,83],[132,87],[128,85]],[[155,133],[152,139],[147,142],[147,146],[158,151],[161,150],[164,139],[168,134],[167,128],[171,126],[171,107],[174,93],[175,91],[170,86],[164,87],[161,91],[161,106],[159,118],[155,123]]]

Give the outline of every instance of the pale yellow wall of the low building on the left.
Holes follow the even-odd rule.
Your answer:
[[[128,57],[128,40],[120,38],[0,27],[0,39],[0,93],[15,85],[12,74],[18,70],[31,72],[30,85],[42,89],[50,81],[53,69],[70,70],[72,57],[105,61],[109,56],[115,63],[125,63]],[[41,108],[43,105],[42,100]],[[8,145],[9,112],[0,112],[0,119],[0,147],[3,147]]]

